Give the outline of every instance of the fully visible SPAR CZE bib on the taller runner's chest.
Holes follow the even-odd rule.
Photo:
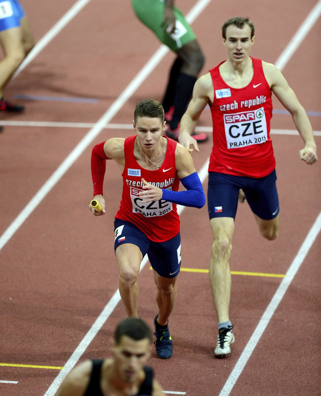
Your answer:
[[[245,147],[264,143],[268,131],[264,108],[234,114],[224,114],[227,148]]]

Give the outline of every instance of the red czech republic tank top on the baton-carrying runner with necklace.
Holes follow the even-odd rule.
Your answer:
[[[167,139],[167,149],[163,165],[160,169],[151,171],[142,168],[134,156],[135,136],[125,139],[125,168],[123,177],[123,194],[117,219],[129,221],[138,227],[154,242],[164,242],[179,233],[180,220],[176,204],[165,200],[141,203],[139,192],[142,191],[141,180],[160,188],[172,191],[179,189],[179,177],[176,173],[175,149],[177,142]]]

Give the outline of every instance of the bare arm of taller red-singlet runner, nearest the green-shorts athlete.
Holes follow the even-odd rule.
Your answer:
[[[201,76],[195,83],[192,100],[190,101],[186,112],[180,120],[179,143],[193,151],[190,145],[193,145],[196,151],[199,151],[197,141],[191,136],[196,124],[205,109],[207,103],[212,103],[214,99],[214,89],[211,74],[207,73]]]

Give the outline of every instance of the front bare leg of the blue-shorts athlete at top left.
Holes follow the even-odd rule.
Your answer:
[[[0,42],[4,50],[4,58],[0,62],[1,98],[3,96],[4,87],[25,58],[21,27],[13,27],[0,32]]]

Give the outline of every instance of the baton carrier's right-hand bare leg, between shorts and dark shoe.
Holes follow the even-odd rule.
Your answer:
[[[153,272],[154,281],[157,286],[156,302],[159,310],[157,322],[161,326],[165,326],[176,301],[177,276],[175,278],[164,278],[163,276],[160,276],[155,270]]]

